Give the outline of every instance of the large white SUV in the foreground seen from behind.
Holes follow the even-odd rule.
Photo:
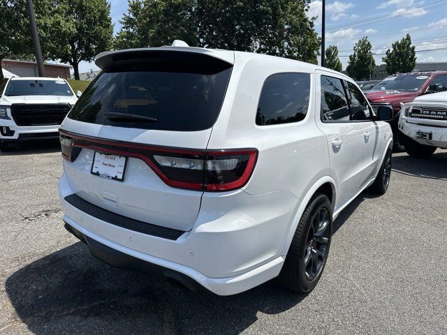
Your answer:
[[[388,188],[391,110],[341,73],[196,47],[96,64],[61,124],[59,193],[66,229],[110,265],[217,295],[278,276],[309,292],[332,221]]]

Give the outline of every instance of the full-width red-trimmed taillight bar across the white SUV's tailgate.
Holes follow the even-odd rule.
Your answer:
[[[198,191],[231,191],[249,181],[256,149],[189,150],[104,140],[60,131],[62,156],[75,161],[81,149],[141,159],[169,186]]]

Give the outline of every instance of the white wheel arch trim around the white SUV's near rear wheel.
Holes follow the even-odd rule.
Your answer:
[[[286,240],[284,241],[284,245],[281,248],[281,256],[285,257],[288,252],[288,248],[291,246],[293,235],[295,234],[296,228],[298,227],[298,223],[300,222],[300,218],[302,214],[304,213],[307,204],[309,204],[309,201],[311,200],[312,196],[315,194],[316,190],[320,188],[323,184],[330,183],[332,186],[332,210],[335,206],[335,197],[337,195],[337,187],[335,186],[335,181],[330,176],[324,176],[318,179],[316,183],[307,191],[306,195],[299,199],[300,205],[298,206],[298,210],[295,212],[295,215],[293,216],[293,219],[291,221],[291,225],[289,227],[289,230],[286,234]]]

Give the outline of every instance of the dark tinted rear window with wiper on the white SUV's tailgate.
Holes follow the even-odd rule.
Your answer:
[[[231,66],[222,62],[216,66],[152,64],[108,68],[87,87],[68,118],[126,128],[203,131],[211,128],[219,116],[230,73]],[[152,121],[126,119],[126,114]]]

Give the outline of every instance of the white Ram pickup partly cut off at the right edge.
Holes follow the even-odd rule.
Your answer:
[[[447,91],[418,96],[402,111],[399,130],[407,154],[427,158],[437,148],[447,149]]]

